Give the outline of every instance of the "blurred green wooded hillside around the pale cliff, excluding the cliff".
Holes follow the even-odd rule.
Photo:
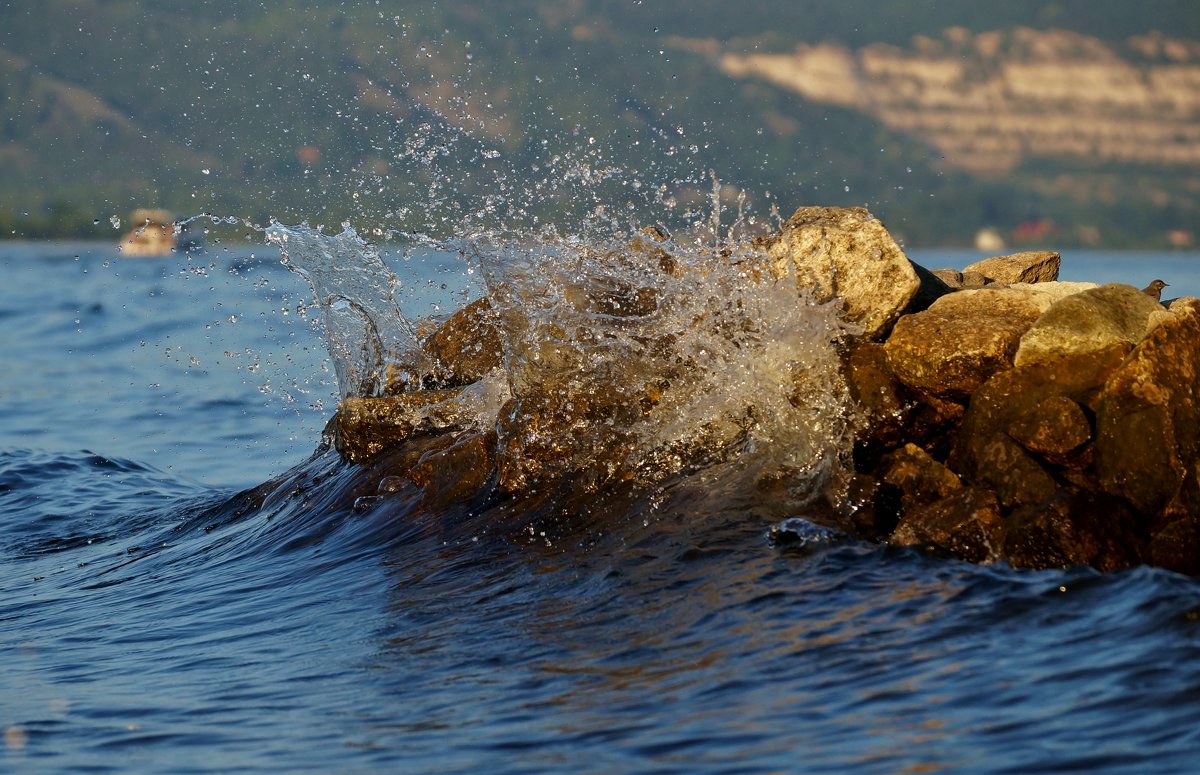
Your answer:
[[[1135,175],[1117,200],[1048,188],[1028,170],[982,181],[860,114],[732,80],[664,41],[904,43],[950,24],[1200,37],[1193,8],[19,0],[0,29],[0,227],[100,234],[94,221],[137,206],[445,233],[606,202],[686,220],[708,206],[712,170],[760,214],[865,204],[910,244],[1036,220],[1104,224],[1105,245],[1152,244],[1195,221],[1200,197],[1162,205],[1150,192],[1186,190],[1194,170]],[[626,172],[592,182],[610,167]],[[1056,235],[1076,239],[1069,227]]]

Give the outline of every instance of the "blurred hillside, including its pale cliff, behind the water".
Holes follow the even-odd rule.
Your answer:
[[[510,218],[590,208],[570,186],[529,192],[608,168],[680,215],[712,170],[731,206],[866,205],[912,245],[1194,246],[1200,12],[0,5],[4,236],[107,239],[139,206],[451,233],[468,202]]]

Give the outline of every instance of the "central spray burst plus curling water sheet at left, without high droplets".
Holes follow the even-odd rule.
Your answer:
[[[390,368],[422,364],[416,331],[439,320],[401,316],[395,281],[352,229],[269,235],[325,310],[343,398],[382,395],[397,385]],[[451,397],[414,403],[413,420],[494,429],[503,491],[565,487],[577,501],[701,475],[720,507],[780,515],[830,494],[846,469],[854,415],[835,346],[852,328],[835,302],[772,276],[752,242],[544,229],[444,247],[482,277],[502,358]]]

